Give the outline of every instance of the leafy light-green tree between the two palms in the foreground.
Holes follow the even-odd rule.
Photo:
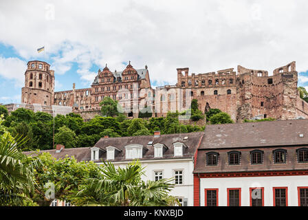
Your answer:
[[[36,154],[42,163],[34,173],[37,185],[31,199],[39,206],[50,206],[53,201],[46,197],[48,188],[45,188],[45,184],[48,182],[54,184],[56,199],[70,201],[70,197],[78,191],[78,186],[90,184],[91,178],[102,179],[102,168],[94,162],[77,162],[74,157],[55,159],[50,153],[39,151]]]

